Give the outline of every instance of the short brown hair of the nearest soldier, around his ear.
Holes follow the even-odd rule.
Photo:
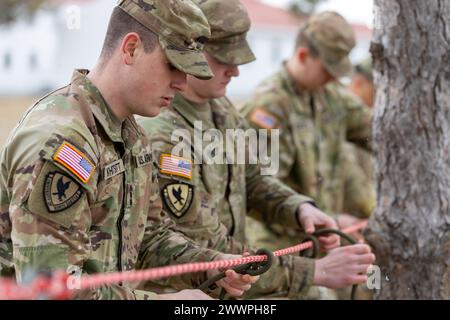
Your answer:
[[[159,43],[157,34],[143,26],[121,8],[116,7],[111,14],[106,31],[105,41],[100,55],[102,62],[106,62],[111,58],[123,37],[130,32],[136,32],[139,35],[146,53],[152,52]]]

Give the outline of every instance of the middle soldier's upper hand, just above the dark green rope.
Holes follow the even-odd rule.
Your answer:
[[[338,228],[334,219],[310,203],[300,205],[297,210],[297,219],[307,234],[313,234],[317,228]],[[323,249],[331,250],[340,245],[340,237],[336,234],[321,236],[319,242]]]

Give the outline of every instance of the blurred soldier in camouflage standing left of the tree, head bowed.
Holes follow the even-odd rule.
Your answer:
[[[351,70],[348,54],[355,45],[351,26],[334,12],[312,16],[301,28],[294,54],[266,79],[242,113],[254,128],[280,130],[277,176],[337,216],[344,228],[366,218],[375,192],[346,152],[347,141],[370,148],[371,112],[336,80]],[[273,247],[295,242],[295,230],[251,222],[250,242]]]

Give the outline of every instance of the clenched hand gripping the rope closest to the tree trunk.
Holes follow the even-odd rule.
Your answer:
[[[314,285],[331,289],[343,288],[367,281],[367,269],[375,255],[365,244],[355,244],[331,250],[316,260]]]

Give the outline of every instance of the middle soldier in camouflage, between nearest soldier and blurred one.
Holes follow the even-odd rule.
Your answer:
[[[171,108],[162,110],[156,118],[138,119],[152,141],[154,158],[158,161],[163,210],[190,238],[205,247],[229,253],[253,251],[246,242],[247,208],[257,209],[267,223],[297,226],[299,231],[305,227],[312,232],[309,218],[314,224],[335,227],[332,219],[311,205],[312,199],[297,194],[274,177],[261,175],[258,165],[195,160],[203,159],[206,152],[206,148],[197,149],[191,139],[186,139],[197,134],[197,121],[202,124],[202,134],[216,130],[223,137],[229,129],[249,128],[224,95],[231,78],[239,74],[238,66],[255,59],[246,41],[250,20],[238,0],[204,0],[200,1],[200,8],[211,26],[211,40],[205,51],[215,77],[201,81],[188,76],[186,90],[176,95]],[[184,139],[181,142],[174,139],[174,132]],[[234,143],[234,154],[242,147]],[[175,148],[188,150],[187,155],[178,154]],[[225,147],[216,146],[210,151],[213,158],[226,157]],[[329,247],[336,245],[335,237],[323,240],[325,244],[328,241]],[[281,257],[246,297],[276,294],[298,298],[312,283],[336,287],[364,281],[364,276],[351,272],[344,275],[355,270],[350,263],[352,258],[373,261],[364,245],[335,249],[317,262]],[[336,269],[331,270],[332,265]],[[328,278],[321,278],[324,275]],[[154,290],[177,289],[172,280],[146,285]]]

